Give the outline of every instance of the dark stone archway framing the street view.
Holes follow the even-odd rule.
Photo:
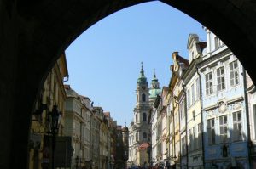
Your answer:
[[[0,168],[26,168],[28,131],[38,88],[62,51],[90,25],[148,0],[0,1]],[[163,0],[211,29],[253,82],[256,3]]]

